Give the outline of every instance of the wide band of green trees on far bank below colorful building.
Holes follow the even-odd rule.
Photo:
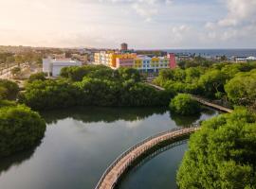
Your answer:
[[[35,110],[72,106],[167,106],[172,93],[141,83],[135,69],[68,67],[57,80],[27,83],[20,102]],[[82,80],[81,80],[82,79]]]

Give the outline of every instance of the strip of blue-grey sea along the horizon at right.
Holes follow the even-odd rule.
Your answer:
[[[216,57],[216,56],[226,56],[226,57],[256,57],[256,48],[255,49],[166,49],[168,53],[174,54],[186,54],[204,57]]]

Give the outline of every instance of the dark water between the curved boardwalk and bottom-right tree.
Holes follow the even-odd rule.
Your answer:
[[[187,144],[175,146],[132,169],[120,182],[120,189],[176,187],[175,175]]]

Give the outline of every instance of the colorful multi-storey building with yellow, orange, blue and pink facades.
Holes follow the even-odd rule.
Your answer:
[[[101,51],[95,53],[95,64],[103,64],[113,69],[119,67],[132,67],[141,72],[157,73],[160,69],[174,69],[176,60],[174,54],[167,57],[148,57],[136,53],[117,53],[114,51]]]

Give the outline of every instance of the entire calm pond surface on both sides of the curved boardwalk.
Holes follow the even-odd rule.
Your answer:
[[[160,131],[208,119],[171,115],[164,109],[73,109],[44,114],[42,143],[0,162],[1,189],[91,189],[108,164],[129,146]],[[174,188],[187,146],[170,149],[132,170],[122,188]]]

